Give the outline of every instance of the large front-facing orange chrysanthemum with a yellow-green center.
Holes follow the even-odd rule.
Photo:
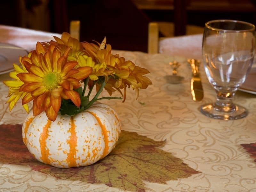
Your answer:
[[[80,107],[79,94],[74,91],[81,86],[79,80],[85,79],[92,72],[91,67],[74,68],[76,61],[68,61],[70,48],[61,54],[54,46],[45,49],[41,43],[36,44],[36,50],[31,53],[30,59],[21,60],[28,73],[19,73],[17,76],[24,84],[20,91],[31,93],[34,98],[33,114],[46,112],[47,117],[55,121],[60,109],[61,98],[70,99]],[[27,103],[22,99],[22,104]]]

